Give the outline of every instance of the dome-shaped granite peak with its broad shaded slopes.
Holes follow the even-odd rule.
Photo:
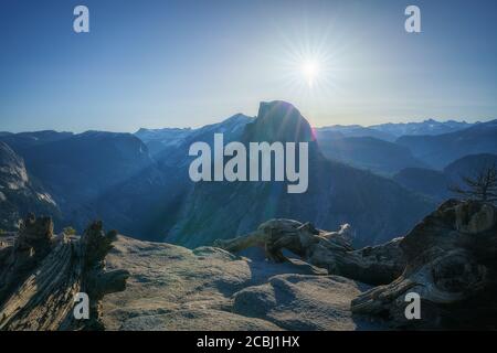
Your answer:
[[[403,234],[434,207],[389,179],[326,159],[307,120],[287,103],[261,104],[242,141],[308,141],[308,191],[288,194],[283,182],[197,183],[167,242],[205,245],[244,234],[265,220],[285,217],[330,228],[348,222],[355,225],[357,244],[376,244]],[[379,229],[384,238],[378,236]]]

